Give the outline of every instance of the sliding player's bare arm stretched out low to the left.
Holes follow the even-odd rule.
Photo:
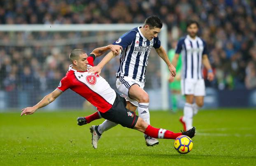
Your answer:
[[[37,109],[40,109],[42,107],[49,105],[58,96],[60,96],[61,93],[62,93],[61,91],[59,91],[58,89],[55,89],[53,92],[49,93],[47,96],[44,96],[44,98],[33,107],[27,107],[22,109],[21,116],[23,116],[24,114],[25,115],[33,114]]]

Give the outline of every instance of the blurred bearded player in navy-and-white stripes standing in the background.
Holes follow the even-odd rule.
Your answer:
[[[190,20],[187,23],[188,35],[181,38],[177,44],[175,57],[172,61],[176,66],[179,54],[182,55],[182,94],[186,96],[184,116],[180,121],[184,130],[192,127],[193,116],[204,104],[205,82],[202,76],[202,64],[208,70],[207,79],[212,81],[214,74],[208,60],[207,45],[204,40],[197,36],[199,25],[196,21]],[[195,100],[195,102],[194,102]]]

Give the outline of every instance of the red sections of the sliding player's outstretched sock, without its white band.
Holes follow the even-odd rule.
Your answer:
[[[151,125],[149,125],[147,127],[147,129],[145,130],[144,134],[147,134],[148,136],[151,136],[153,138],[158,138],[158,131],[159,130],[160,129],[157,129],[157,128],[152,127]],[[169,130],[166,130],[165,134],[164,134],[164,139],[176,139],[180,135],[182,135],[181,132],[174,133],[174,132],[171,132]]]

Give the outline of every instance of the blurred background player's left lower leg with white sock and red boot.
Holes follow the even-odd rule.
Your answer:
[[[193,126],[193,95],[186,95],[183,116],[179,119],[183,124],[184,130],[189,130]]]

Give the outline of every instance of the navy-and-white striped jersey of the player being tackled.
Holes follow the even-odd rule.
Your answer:
[[[159,48],[161,42],[158,37],[149,41],[136,27],[123,34],[114,45],[121,45],[123,51],[120,55],[120,66],[116,77],[128,76],[134,80],[145,82],[146,67],[148,64],[149,52],[152,48]]]

